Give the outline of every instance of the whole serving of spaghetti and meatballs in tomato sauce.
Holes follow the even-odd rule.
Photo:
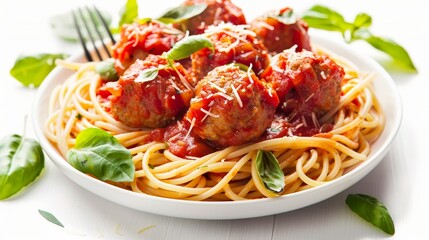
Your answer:
[[[200,23],[206,19],[214,25],[206,22],[203,30],[186,30],[201,34],[213,46],[188,59],[164,61],[162,53],[187,35],[177,34],[183,29],[162,30],[174,26],[151,21],[123,27],[120,42],[113,46],[120,75],[116,82],[100,77],[98,63],[58,62],[76,72],[52,92],[45,134],[64,157],[81,131],[99,128],[130,151],[135,166],[132,182],[106,182],[138,193],[207,201],[302,191],[339,178],[367,159],[385,121],[372,88],[373,75],[311,43],[300,20],[285,24],[265,14],[247,24],[237,11],[216,15],[210,10],[213,4],[230,1],[202,2],[206,9],[186,23],[195,27],[195,19]],[[287,10],[272,14],[280,16]],[[216,23],[210,14],[222,19]],[[147,29],[151,32],[144,33]],[[158,29],[166,35],[158,34],[159,38],[170,39],[160,43],[171,46],[157,45],[152,49],[162,52],[154,53],[141,44],[148,38],[136,34]],[[281,35],[285,31],[291,31],[295,40],[290,36],[285,40]],[[280,40],[270,34],[281,35]],[[286,45],[279,47],[278,41]],[[222,62],[225,58],[227,63]],[[141,79],[141,71],[155,68],[155,79]],[[308,79],[308,73],[315,79]],[[164,94],[179,98],[181,104],[173,104],[179,109],[155,115],[151,103],[156,101],[140,106],[144,93],[125,93],[141,85],[151,91],[150,84],[156,83],[174,87],[177,95],[170,96],[167,90]],[[141,108],[145,115],[137,111]],[[245,108],[251,111],[246,114]],[[261,181],[255,163],[260,150],[275,156],[284,175],[281,191],[272,191]]]

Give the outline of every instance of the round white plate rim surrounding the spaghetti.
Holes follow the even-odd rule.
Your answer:
[[[63,68],[54,69],[38,90],[32,112],[37,138],[49,158],[71,180],[107,200],[145,212],[194,219],[239,219],[287,212],[320,202],[355,184],[384,158],[399,129],[402,110],[396,86],[379,64],[343,43],[333,42],[320,36],[311,37],[314,43],[349,59],[361,71],[376,73],[375,90],[387,119],[385,129],[372,145],[368,159],[346,175],[324,185],[273,199],[197,202],[139,194],[88,177],[69,165],[43,134],[43,125],[48,114],[49,95],[56,85],[72,74],[72,71]],[[83,55],[79,54],[71,59],[83,61]]]

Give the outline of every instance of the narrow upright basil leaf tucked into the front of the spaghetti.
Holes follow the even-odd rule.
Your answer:
[[[283,191],[285,186],[284,173],[272,152],[258,151],[256,154],[256,170],[267,189],[276,193]]]

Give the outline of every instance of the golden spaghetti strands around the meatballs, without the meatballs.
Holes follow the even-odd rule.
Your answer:
[[[272,151],[278,159],[285,181],[281,194],[302,191],[339,178],[365,161],[371,143],[384,127],[382,109],[371,84],[374,76],[363,75],[347,59],[329,54],[346,75],[339,105],[319,119],[333,124],[325,134],[269,139],[198,158],[177,157],[163,142],[145,143],[149,130],[130,128],[106,111],[108,103],[96,95],[101,85],[94,71],[96,63],[65,61],[58,64],[76,72],[52,92],[45,134],[66,156],[83,129],[97,127],[111,133],[131,152],[136,172],[133,182],[110,184],[138,193],[208,201],[278,196],[257,176],[255,158],[259,149]]]

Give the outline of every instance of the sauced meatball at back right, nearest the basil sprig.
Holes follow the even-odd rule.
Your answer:
[[[297,51],[311,50],[308,25],[297,19],[291,8],[271,11],[255,18],[250,23],[250,29],[273,55],[295,45]]]

